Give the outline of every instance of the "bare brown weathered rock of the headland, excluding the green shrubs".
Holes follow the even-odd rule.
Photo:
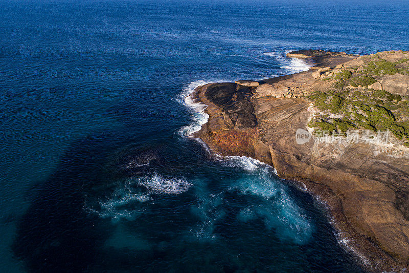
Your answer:
[[[367,61],[319,50],[287,56],[313,58],[324,68],[319,73]],[[381,56],[394,59],[391,52]],[[210,118],[195,136],[218,154],[257,158],[274,165],[280,177],[304,182],[329,205],[335,228],[370,270],[409,270],[409,150],[382,152],[372,144],[318,143],[314,138],[297,144],[296,131],[307,128],[310,118],[310,103],[299,96],[331,85],[314,77],[316,72],[259,81],[254,95],[236,83],[197,88],[192,96],[208,105]],[[388,79],[379,79],[381,88]],[[407,92],[400,85],[390,88]]]

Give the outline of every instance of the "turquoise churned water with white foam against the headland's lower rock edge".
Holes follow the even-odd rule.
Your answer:
[[[287,194],[287,186],[281,183],[271,171],[271,166],[252,158],[243,158],[241,163],[251,166],[252,172],[234,180],[228,191],[240,192],[243,195],[262,197],[265,201],[256,206],[248,206],[240,211],[237,219],[242,222],[261,218],[267,229],[279,229],[283,240],[297,244],[306,243],[312,235],[311,219],[306,216]],[[237,160],[237,157],[229,160]]]

